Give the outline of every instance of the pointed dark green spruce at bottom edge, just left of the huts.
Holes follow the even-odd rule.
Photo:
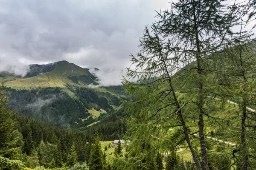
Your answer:
[[[90,170],[104,170],[104,160],[102,156],[101,145],[99,142],[99,133],[96,131],[94,135],[94,143],[90,152],[89,159]]]

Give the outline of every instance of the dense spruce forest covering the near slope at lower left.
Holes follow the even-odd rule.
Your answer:
[[[35,92],[34,95],[38,93],[41,96],[47,90],[50,90],[52,95],[58,95],[59,89],[40,89],[41,92],[37,90],[32,92]],[[23,92],[26,93],[21,94],[28,94],[28,91]],[[68,130],[12,112],[11,105],[7,106],[8,97],[6,95],[7,92],[4,91],[2,85],[0,91],[0,167],[4,170],[21,170],[25,166],[36,169],[57,168],[58,170],[87,168],[87,163],[95,161],[93,159],[95,152],[98,152],[97,156],[102,154],[100,148],[95,148],[97,144],[100,146],[97,143],[99,139],[114,140],[123,137],[125,133],[125,119],[121,116],[122,110],[108,114],[102,120],[104,126],[100,123],[92,128]],[[28,98],[31,99],[32,95]],[[99,137],[97,129],[99,129],[101,137]],[[112,130],[108,131],[108,129]],[[102,166],[103,164],[104,167],[110,166],[106,161],[106,155],[101,156],[101,160]]]

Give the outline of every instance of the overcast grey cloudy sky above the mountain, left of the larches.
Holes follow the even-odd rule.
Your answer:
[[[0,71],[60,60],[116,85],[145,25],[168,0],[0,0]],[[10,67],[14,66],[15,67]],[[11,68],[11,69],[10,69]]]

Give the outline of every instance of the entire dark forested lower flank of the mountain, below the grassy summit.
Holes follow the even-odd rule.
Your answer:
[[[9,92],[9,105],[14,111],[58,127],[78,126],[76,122],[80,122],[80,127],[89,125],[98,121],[89,113],[92,108],[99,112],[103,109],[110,114],[114,111],[112,106],[120,105],[120,100],[108,92],[97,92],[90,88],[69,89],[75,97],[69,96],[61,88],[6,88],[6,91]],[[81,122],[81,119],[90,121]]]

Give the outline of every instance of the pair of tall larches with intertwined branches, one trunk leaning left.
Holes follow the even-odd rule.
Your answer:
[[[169,145],[177,148],[186,141],[198,170],[209,170],[204,116],[211,117],[205,107],[214,83],[207,74],[214,69],[209,63],[218,62],[210,54],[223,50],[232,41],[232,28],[239,24],[241,8],[236,3],[224,5],[224,0],[178,0],[170,5],[171,10],[160,11],[159,20],[145,27],[141,50],[131,55],[132,66],[123,79],[131,98],[126,107],[126,112],[132,114],[129,125],[134,144],[130,149],[140,152],[138,147],[145,140],[152,143],[152,150],[164,150]],[[194,65],[183,68],[192,61]],[[178,70],[183,74],[173,75]],[[177,91],[184,89],[190,97],[179,101]],[[198,131],[192,132],[186,124],[183,111],[188,106],[197,110]],[[172,127],[176,127],[175,132],[169,131]],[[190,137],[196,132],[202,167]]]

